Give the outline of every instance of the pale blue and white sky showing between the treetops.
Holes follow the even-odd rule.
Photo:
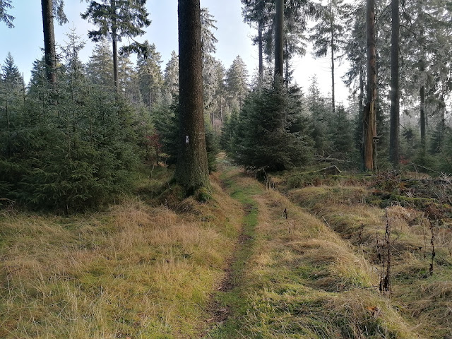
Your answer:
[[[13,55],[14,61],[25,81],[30,79],[32,63],[42,57],[44,47],[42,37],[42,12],[40,1],[37,0],[13,0],[14,8],[8,11],[16,17],[13,21],[15,28],[9,29],[4,23],[0,23],[0,63],[3,64],[8,52]],[[88,30],[92,28],[90,23],[83,20],[80,13],[85,11],[88,4],[80,0],[66,0],[64,11],[69,23],[59,26],[55,23],[55,39],[57,44],[64,45],[68,41],[66,34],[71,28],[76,29],[76,35],[85,40],[86,45],[81,52],[81,59],[88,61],[93,42],[88,40]],[[145,35],[139,37],[139,41],[149,40],[154,43],[157,52],[162,54],[163,66],[169,60],[171,52],[177,52],[177,0],[148,0],[146,4],[152,23],[146,29]],[[243,22],[242,4],[240,0],[201,0],[201,6],[207,7],[217,20],[218,30],[214,32],[218,39],[215,57],[222,61],[225,68],[229,68],[232,61],[239,55],[245,62],[249,75],[256,73],[258,67],[258,51],[251,43],[251,37],[255,30]],[[294,67],[294,80],[307,92],[311,78],[318,78],[323,95],[331,93],[331,69],[328,57],[314,59],[311,52],[304,57],[292,60]],[[340,80],[345,73],[345,65],[336,70],[336,101],[346,105],[348,90]],[[251,80],[251,77],[250,77]]]

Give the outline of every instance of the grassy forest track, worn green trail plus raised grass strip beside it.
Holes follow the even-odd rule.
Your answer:
[[[222,189],[244,217],[201,338],[422,338],[372,290],[367,262],[338,234],[220,161]]]

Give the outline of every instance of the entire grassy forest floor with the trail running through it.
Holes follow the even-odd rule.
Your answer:
[[[206,203],[160,169],[101,213],[0,211],[0,338],[452,335],[446,181],[219,162]]]

